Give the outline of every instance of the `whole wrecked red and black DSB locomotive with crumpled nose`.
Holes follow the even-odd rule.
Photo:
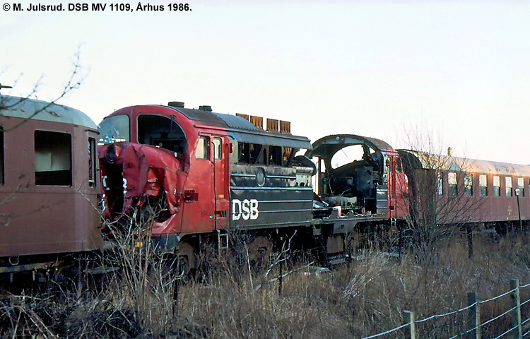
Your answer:
[[[296,231],[305,240],[318,239],[327,254],[342,254],[356,226],[401,218],[396,206],[404,196],[396,183],[404,174],[392,170],[399,155],[389,145],[333,136],[313,149],[307,138],[290,135],[286,121],[268,119],[266,131],[261,124],[259,117],[218,114],[208,106],[187,109],[181,102],[110,114],[99,126],[105,218],[138,216],[162,201],[165,208],[153,224],[155,247],[178,250],[190,267],[198,235],[220,242],[230,231],[244,231],[267,252],[271,238]],[[343,199],[338,193],[315,196],[317,168],[310,157],[326,158],[352,144],[363,145],[370,161],[351,170],[370,183]],[[298,150],[307,156],[295,155]]]

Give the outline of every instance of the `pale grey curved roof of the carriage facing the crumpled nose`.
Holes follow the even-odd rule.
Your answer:
[[[94,121],[77,109],[10,95],[0,95],[0,116],[76,124],[97,129]]]

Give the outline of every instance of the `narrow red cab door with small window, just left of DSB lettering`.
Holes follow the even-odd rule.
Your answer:
[[[229,148],[230,141],[227,136],[211,136],[211,167],[213,180],[213,218],[216,229],[228,226],[229,199],[228,196],[228,171],[230,169]]]

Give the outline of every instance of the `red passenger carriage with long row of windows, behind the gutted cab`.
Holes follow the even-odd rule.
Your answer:
[[[431,196],[439,223],[502,225],[530,220],[530,165],[465,159],[452,155],[431,155],[399,150],[411,177],[411,191],[418,208],[422,196]],[[426,199],[425,199],[426,201]],[[446,207],[447,206],[447,207]]]

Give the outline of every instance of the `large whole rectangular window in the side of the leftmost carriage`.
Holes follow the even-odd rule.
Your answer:
[[[71,184],[71,135],[35,131],[35,185]]]

